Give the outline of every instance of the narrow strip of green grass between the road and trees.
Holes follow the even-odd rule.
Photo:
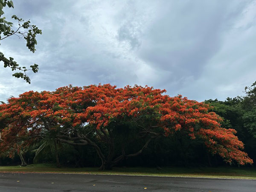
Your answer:
[[[214,178],[244,178],[256,179],[256,169],[253,167],[204,167],[204,168],[181,168],[162,167],[156,168],[117,167],[112,170],[99,171],[98,168],[57,168],[52,164],[35,164],[26,167],[0,166],[0,172],[41,172],[41,173],[80,173],[80,174],[108,174],[108,175],[148,175],[169,177],[214,177]]]

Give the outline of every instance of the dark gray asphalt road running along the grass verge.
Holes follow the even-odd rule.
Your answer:
[[[0,192],[256,192],[256,180],[0,173]]]

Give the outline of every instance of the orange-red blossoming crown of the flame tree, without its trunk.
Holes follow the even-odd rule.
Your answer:
[[[67,127],[81,128],[84,123],[99,130],[135,122],[143,133],[171,137],[179,131],[193,140],[204,140],[209,151],[227,162],[253,163],[240,150],[243,143],[234,135],[236,131],[221,128],[221,117],[209,113],[209,105],[181,95],[170,97],[164,95],[165,92],[148,86],[116,88],[99,84],[23,93],[9,99],[8,104],[0,105],[5,141],[0,143],[0,149],[6,150],[14,141],[26,139],[23,143],[27,144],[31,141],[28,138],[47,131],[57,134]]]

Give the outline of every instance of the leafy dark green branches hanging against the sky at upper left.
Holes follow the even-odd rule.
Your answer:
[[[17,24],[7,21],[6,17],[3,17],[4,7],[14,8],[12,0],[0,0],[0,41],[12,35],[16,35],[18,38],[24,38],[26,40],[26,47],[28,47],[31,52],[35,52],[35,45],[37,44],[36,35],[42,34],[41,29],[38,29],[37,26],[32,25],[30,20],[23,20],[16,15],[12,15],[12,19],[14,19]],[[14,61],[14,58],[6,58],[3,52],[0,52],[0,61],[3,61],[3,67],[10,67],[12,71],[21,71],[14,73],[12,76],[16,78],[23,78],[29,84],[30,78],[26,74],[26,71],[32,70],[34,73],[38,72],[37,64],[30,65],[31,69],[20,67],[19,64]]]

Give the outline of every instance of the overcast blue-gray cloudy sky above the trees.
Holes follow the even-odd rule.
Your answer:
[[[188,99],[243,95],[256,80],[256,0],[13,0],[42,29],[37,51],[9,37],[0,51],[39,65],[31,84],[0,66],[0,101],[73,84],[139,84]]]

